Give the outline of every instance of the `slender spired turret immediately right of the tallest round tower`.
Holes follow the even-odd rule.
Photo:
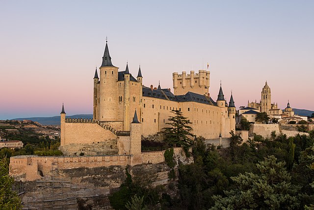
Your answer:
[[[129,66],[127,62],[124,73],[124,99],[123,99],[123,130],[130,130],[130,77]]]

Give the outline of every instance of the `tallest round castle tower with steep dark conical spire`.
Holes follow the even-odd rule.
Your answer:
[[[106,41],[103,62],[100,69],[99,117],[100,121],[117,121],[118,67],[112,65]]]

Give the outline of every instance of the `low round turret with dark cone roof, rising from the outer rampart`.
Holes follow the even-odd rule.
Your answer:
[[[130,154],[132,155],[131,165],[142,163],[141,129],[141,123],[137,120],[135,110],[133,121],[130,124]]]

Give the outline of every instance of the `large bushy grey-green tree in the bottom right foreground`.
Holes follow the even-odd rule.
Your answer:
[[[291,184],[291,176],[284,168],[285,162],[276,162],[275,156],[268,156],[257,164],[259,174],[239,174],[231,179],[237,186],[225,191],[226,197],[213,196],[220,209],[298,209],[299,186]]]

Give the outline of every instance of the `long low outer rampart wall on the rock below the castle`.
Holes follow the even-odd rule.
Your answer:
[[[142,152],[141,163],[162,163],[165,161],[163,151]],[[174,148],[174,155],[183,156],[182,148]],[[16,180],[32,181],[42,177],[50,177],[53,173],[64,169],[95,168],[108,166],[132,165],[133,155],[95,155],[95,156],[62,156],[44,157],[37,155],[21,155],[10,158],[10,175]]]

